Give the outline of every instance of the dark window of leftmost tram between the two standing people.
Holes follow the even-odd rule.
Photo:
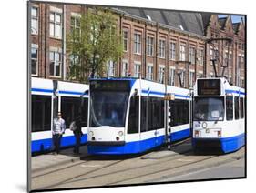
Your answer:
[[[80,115],[80,105],[81,100],[79,97],[61,97],[61,112],[67,128]]]

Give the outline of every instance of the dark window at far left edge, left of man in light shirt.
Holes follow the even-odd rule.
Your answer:
[[[51,130],[51,96],[32,95],[32,132]]]

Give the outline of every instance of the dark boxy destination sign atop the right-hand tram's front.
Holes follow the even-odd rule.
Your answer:
[[[220,79],[199,79],[199,96],[220,96]]]

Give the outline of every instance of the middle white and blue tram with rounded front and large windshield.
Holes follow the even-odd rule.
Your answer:
[[[164,96],[175,95],[165,105]],[[161,146],[166,137],[190,137],[189,90],[135,78],[90,80],[89,154],[138,154]],[[171,109],[172,121],[168,123]],[[171,125],[171,131],[165,129]],[[169,134],[168,134],[169,132]]]

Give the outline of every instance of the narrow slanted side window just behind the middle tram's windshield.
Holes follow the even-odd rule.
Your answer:
[[[138,133],[138,96],[130,99],[128,115],[128,134]]]

